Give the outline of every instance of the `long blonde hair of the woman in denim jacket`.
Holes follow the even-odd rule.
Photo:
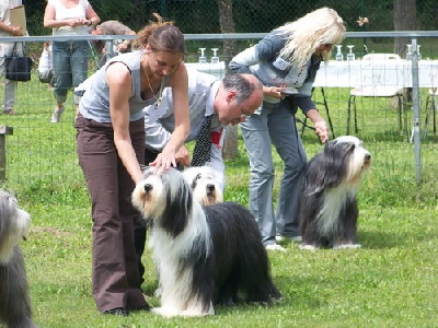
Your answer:
[[[289,38],[279,56],[296,67],[304,66],[321,45],[336,45],[345,38],[345,25],[337,12],[330,8],[320,8],[295,22],[278,27]],[[323,51],[327,61],[332,51]]]

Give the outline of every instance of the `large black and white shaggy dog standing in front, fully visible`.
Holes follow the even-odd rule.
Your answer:
[[[153,174],[132,192],[132,203],[151,222],[149,246],[159,270],[165,316],[214,315],[215,304],[272,303],[280,298],[266,249],[250,211],[234,202],[201,207],[182,173]]]

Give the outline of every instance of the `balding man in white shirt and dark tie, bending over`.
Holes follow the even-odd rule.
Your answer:
[[[208,165],[221,173],[221,179],[218,184],[223,190],[223,128],[227,125],[240,124],[247,116],[254,114],[263,102],[263,85],[252,74],[229,74],[219,80],[214,75],[194,69],[187,69],[187,73],[191,132],[186,142],[196,140],[205,118],[212,115],[210,160]],[[170,87],[163,90],[161,101],[158,103],[151,105],[154,108],[146,108],[143,110],[146,164],[152,162],[164,148],[170,140],[175,124],[172,90]],[[182,166],[188,166],[192,163],[189,152],[184,145],[176,152],[175,159]],[[141,263],[145,242],[146,227],[143,224],[138,223],[135,225],[135,245],[140,277],[145,273],[145,267]]]

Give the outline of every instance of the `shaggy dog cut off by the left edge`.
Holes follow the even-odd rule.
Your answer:
[[[20,209],[16,199],[0,190],[0,323],[7,327],[36,327],[23,255],[19,243],[31,224],[31,215]]]

